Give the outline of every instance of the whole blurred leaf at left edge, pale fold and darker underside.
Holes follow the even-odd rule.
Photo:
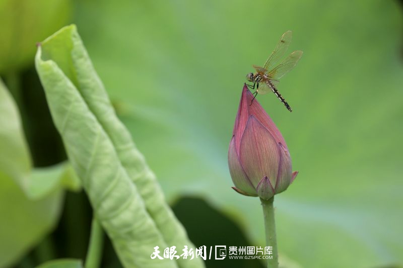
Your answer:
[[[0,266],[17,260],[54,227],[62,186],[80,187],[69,165],[32,169],[20,115],[0,79]]]

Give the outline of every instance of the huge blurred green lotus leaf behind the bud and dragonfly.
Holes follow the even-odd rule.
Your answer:
[[[245,75],[292,30],[289,52],[304,55],[279,91],[294,112],[257,98],[300,171],[276,196],[280,254],[313,268],[403,263],[398,3],[157,3],[80,2],[77,25],[168,200],[202,196],[264,244],[259,201],[230,189],[227,152]]]

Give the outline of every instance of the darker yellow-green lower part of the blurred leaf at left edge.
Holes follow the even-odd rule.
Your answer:
[[[0,267],[11,265],[54,227],[62,201],[60,190],[33,201],[0,170]]]

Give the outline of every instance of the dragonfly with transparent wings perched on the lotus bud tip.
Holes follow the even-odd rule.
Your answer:
[[[246,75],[246,79],[249,82],[253,82],[253,85],[247,84],[247,86],[252,90],[254,90],[256,87],[256,92],[253,93],[254,97],[252,102],[256,98],[257,94],[264,95],[272,91],[290,112],[293,111],[290,105],[277,90],[277,84],[279,83],[279,79],[281,77],[283,77],[286,73],[291,71],[295,65],[297,65],[298,60],[302,56],[302,51],[294,51],[280,64],[276,65],[276,63],[279,62],[279,60],[284,56],[288,47],[290,46],[291,38],[292,32],[285,32],[270,57],[268,57],[264,63],[263,67],[253,65],[253,68],[255,68],[256,72],[251,72]],[[252,103],[250,105],[252,105]]]

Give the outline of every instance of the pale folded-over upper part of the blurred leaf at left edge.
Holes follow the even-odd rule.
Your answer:
[[[80,190],[80,182],[67,163],[32,168],[32,160],[17,106],[0,79],[0,170],[13,178],[31,199],[55,189]]]

